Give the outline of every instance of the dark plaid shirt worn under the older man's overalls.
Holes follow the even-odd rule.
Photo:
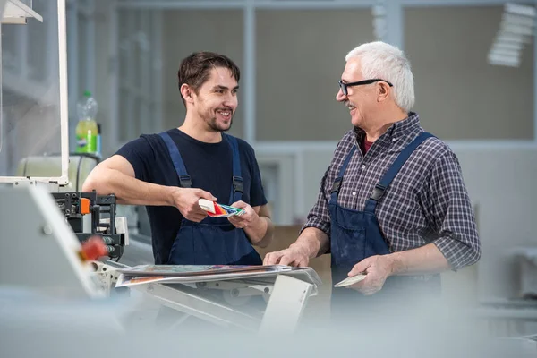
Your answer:
[[[402,149],[423,132],[417,114],[393,124],[363,156],[364,132],[349,131],[337,143],[334,158],[320,183],[316,204],[306,227],[330,236],[328,201],[332,184],[352,146],[358,150],[347,166],[338,204],[363,210],[380,178]],[[473,209],[458,160],[443,141],[429,138],[408,158],[388,186],[375,211],[391,251],[405,251],[434,243],[453,269],[472,265],[481,255]]]

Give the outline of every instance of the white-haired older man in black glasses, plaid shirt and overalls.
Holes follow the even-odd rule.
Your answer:
[[[307,266],[330,252],[334,284],[365,274],[354,290],[334,289],[333,311],[438,293],[439,272],[481,255],[457,158],[411,112],[413,73],[403,52],[372,42],[345,60],[336,99],[349,108],[354,129],[337,144],[296,242],[264,260]]]

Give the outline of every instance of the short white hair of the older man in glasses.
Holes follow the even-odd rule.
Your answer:
[[[403,51],[385,42],[375,41],[351,50],[345,61],[360,58],[364,80],[379,78],[394,85],[396,105],[409,112],[414,105],[413,74]]]

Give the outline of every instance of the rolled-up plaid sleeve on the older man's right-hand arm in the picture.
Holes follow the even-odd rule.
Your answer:
[[[452,269],[473,265],[480,259],[481,245],[472,202],[452,151],[437,158],[430,172],[423,206],[430,225],[439,234],[433,243]]]

